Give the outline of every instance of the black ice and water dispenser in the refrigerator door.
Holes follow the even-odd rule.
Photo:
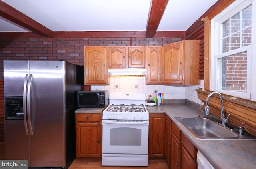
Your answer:
[[[23,97],[5,97],[5,119],[23,119]]]

